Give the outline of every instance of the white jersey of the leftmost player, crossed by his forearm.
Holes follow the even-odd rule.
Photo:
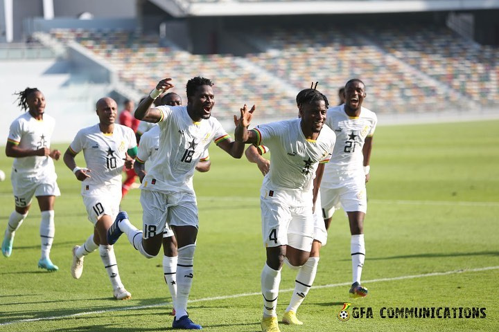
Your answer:
[[[49,147],[55,120],[44,114],[43,120],[36,120],[29,112],[24,113],[10,124],[7,141],[21,149],[37,150]],[[12,172],[24,177],[35,177],[55,181],[55,167],[49,156],[28,156],[14,158]]]

